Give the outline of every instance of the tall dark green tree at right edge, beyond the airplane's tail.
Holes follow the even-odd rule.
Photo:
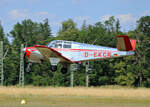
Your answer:
[[[149,63],[150,63],[150,35],[149,35],[149,23],[150,17],[143,16],[137,21],[137,28],[135,31],[130,31],[129,35],[131,37],[136,37],[136,85],[150,87],[150,74]]]

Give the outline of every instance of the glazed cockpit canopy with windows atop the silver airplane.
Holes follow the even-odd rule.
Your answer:
[[[54,40],[48,44],[48,47],[51,48],[71,48],[71,41],[63,41],[63,40]]]

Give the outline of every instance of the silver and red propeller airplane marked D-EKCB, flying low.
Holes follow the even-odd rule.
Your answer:
[[[61,72],[64,74],[67,73],[67,66],[72,63],[81,64],[86,61],[134,55],[135,46],[136,40],[129,39],[127,35],[118,35],[117,48],[54,40],[47,46],[34,45],[23,50],[29,62],[50,61],[53,72],[57,71],[57,65],[61,63],[63,65]]]

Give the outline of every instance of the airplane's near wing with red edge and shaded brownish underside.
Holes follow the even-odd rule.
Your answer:
[[[49,58],[60,58],[60,62],[74,63],[74,61],[63,56],[61,53],[59,53],[58,51],[56,51],[53,48],[43,46],[43,45],[35,45],[34,47],[38,51],[40,51],[40,53],[44,56],[45,60],[49,61]]]

